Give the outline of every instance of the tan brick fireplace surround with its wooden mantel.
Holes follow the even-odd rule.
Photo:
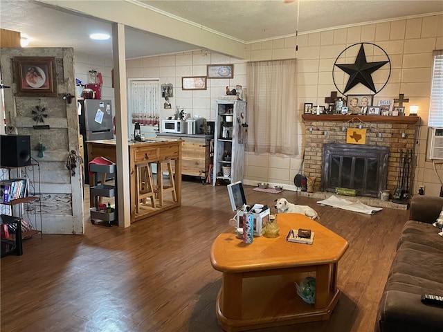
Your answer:
[[[325,115],[319,116],[303,114],[302,120],[305,123],[305,176],[315,176],[316,183],[314,190],[320,191],[323,187],[323,145],[326,143],[336,143],[352,147],[361,145],[346,144],[347,128],[366,129],[365,145],[369,147],[387,147],[388,167],[386,175],[386,189],[394,194],[397,182],[399,181],[399,160],[401,150],[412,149],[413,158],[410,168],[410,192],[413,183],[415,165],[415,142],[419,127],[419,117],[417,116],[341,116]]]

